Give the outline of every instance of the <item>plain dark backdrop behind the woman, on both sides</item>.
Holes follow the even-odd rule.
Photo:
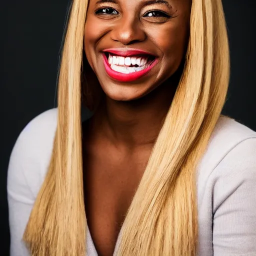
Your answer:
[[[255,1],[223,0],[231,78],[223,114],[256,130]],[[8,255],[6,174],[11,149],[24,126],[55,107],[55,87],[68,0],[13,0],[0,4],[3,67],[0,75],[0,255]]]

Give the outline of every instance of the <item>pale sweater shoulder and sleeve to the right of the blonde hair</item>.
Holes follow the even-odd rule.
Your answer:
[[[256,255],[255,202],[256,132],[220,117],[198,166],[200,254]]]

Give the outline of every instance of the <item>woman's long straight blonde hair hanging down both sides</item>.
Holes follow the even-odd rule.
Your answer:
[[[52,156],[23,234],[33,256],[86,253],[80,86],[87,4],[88,0],[72,2]],[[192,0],[184,70],[122,223],[119,256],[196,254],[196,166],[220,116],[228,81],[221,0]]]

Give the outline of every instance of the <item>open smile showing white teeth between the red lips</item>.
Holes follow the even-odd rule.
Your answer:
[[[112,70],[123,74],[135,73],[144,70],[155,60],[155,56],[146,54],[126,57],[114,55],[110,52],[104,52],[104,54],[106,56],[109,67]]]

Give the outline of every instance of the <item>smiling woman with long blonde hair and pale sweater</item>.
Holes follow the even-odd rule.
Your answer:
[[[11,255],[256,255],[256,132],[220,116],[228,79],[221,0],[73,0],[58,108],[10,157]]]

